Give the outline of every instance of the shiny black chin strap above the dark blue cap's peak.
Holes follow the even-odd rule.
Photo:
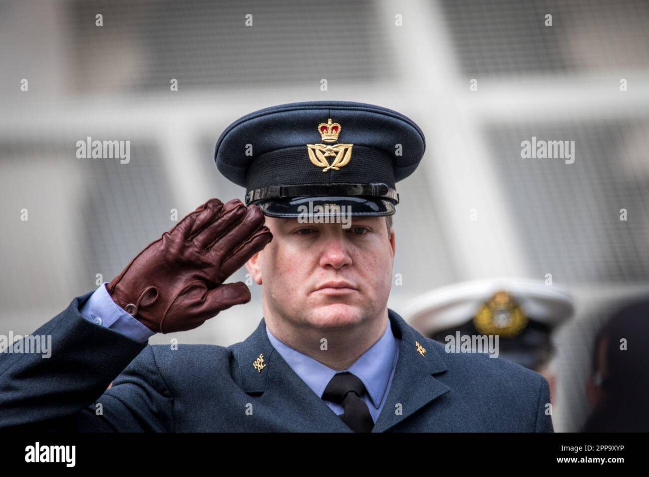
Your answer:
[[[263,199],[285,199],[308,195],[369,195],[381,199],[391,199],[399,203],[396,190],[384,183],[378,184],[288,184],[284,186],[268,186],[247,191],[245,204]]]

